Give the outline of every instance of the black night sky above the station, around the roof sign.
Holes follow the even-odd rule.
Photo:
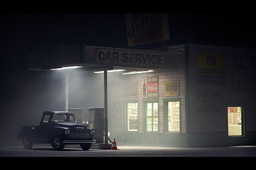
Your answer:
[[[57,43],[133,48],[127,45],[124,13],[4,13],[0,24],[1,61],[9,66],[20,65],[29,51]],[[251,13],[170,13],[169,25],[167,45],[256,45]],[[158,42],[138,48],[159,46]],[[20,67],[26,70],[26,65]]]

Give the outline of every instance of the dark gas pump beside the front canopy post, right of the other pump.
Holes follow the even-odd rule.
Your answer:
[[[87,108],[89,127],[95,129],[96,143],[104,143],[104,108]]]

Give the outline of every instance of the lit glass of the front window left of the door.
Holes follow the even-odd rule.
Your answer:
[[[128,131],[138,131],[138,103],[127,103]]]

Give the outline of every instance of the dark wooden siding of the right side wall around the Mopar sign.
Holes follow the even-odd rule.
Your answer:
[[[196,82],[196,52],[216,52],[226,55],[226,84]],[[234,56],[253,56],[255,51],[244,48],[189,44],[189,129],[191,132],[227,132],[227,106],[245,106],[246,131],[256,131],[256,89],[236,88],[234,82]],[[255,62],[256,63],[256,62]],[[196,94],[221,93],[221,112],[196,111]]]

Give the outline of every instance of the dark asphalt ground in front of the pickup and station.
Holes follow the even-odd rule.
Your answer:
[[[255,157],[256,146],[233,147],[154,147],[117,146],[118,150],[53,150],[50,144],[35,144],[32,149],[21,146],[2,147],[1,157]]]

